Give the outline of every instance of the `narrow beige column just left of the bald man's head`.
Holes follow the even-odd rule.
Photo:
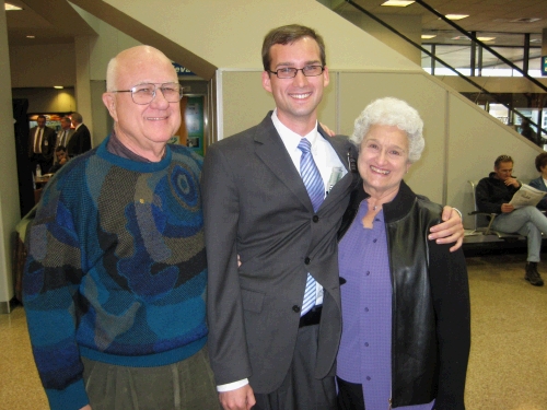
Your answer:
[[[83,122],[90,129],[91,144],[94,147],[93,134],[93,112],[91,109],[91,75],[90,56],[91,46],[95,42],[94,37],[74,37],[75,48],[75,106],[77,112],[83,117]]]

